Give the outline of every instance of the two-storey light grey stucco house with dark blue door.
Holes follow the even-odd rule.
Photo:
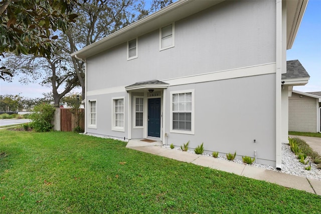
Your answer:
[[[72,54],[86,62],[86,130],[281,168],[282,80],[307,1],[180,0]]]

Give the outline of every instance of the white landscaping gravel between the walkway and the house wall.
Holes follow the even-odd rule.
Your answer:
[[[164,145],[161,147],[170,149],[170,145]],[[174,148],[174,149],[181,150],[179,148]],[[195,152],[191,150],[188,150],[188,152],[195,154]],[[212,154],[203,153],[203,155],[208,157],[213,157]],[[218,156],[218,158],[221,160],[229,161],[225,156]],[[305,160],[309,160],[309,158],[307,157]],[[233,162],[239,163],[239,164],[245,164],[243,163],[242,160],[239,160],[239,159],[234,159]],[[291,151],[290,146],[288,144],[282,144],[282,168],[280,172],[301,176],[301,177],[306,177],[306,178],[311,178],[311,179],[316,179],[316,180],[321,180],[321,169],[317,169],[316,164],[311,163],[311,161],[309,162],[311,164],[311,170],[305,170],[305,167],[308,165],[304,165],[299,162],[297,157]],[[251,166],[279,172],[279,170],[277,170],[274,166],[269,166],[269,165],[264,165],[259,163],[253,163],[251,164]]]

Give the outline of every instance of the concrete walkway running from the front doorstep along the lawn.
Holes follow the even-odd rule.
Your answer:
[[[299,177],[245,164],[243,165],[232,161],[182,152],[175,149],[162,148],[157,145],[162,145],[162,142],[146,143],[140,140],[130,140],[126,147],[321,195],[321,180]]]

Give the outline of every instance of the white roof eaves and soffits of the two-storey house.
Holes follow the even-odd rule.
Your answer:
[[[71,54],[86,59],[135,37],[147,34],[170,23],[176,22],[226,0],[179,0],[119,31]],[[283,0],[285,1],[285,0]],[[286,2],[286,48],[290,49],[300,26],[308,0],[287,0]]]

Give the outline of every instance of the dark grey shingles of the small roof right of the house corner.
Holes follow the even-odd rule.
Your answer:
[[[286,61],[286,73],[282,74],[282,79],[296,79],[310,77],[299,60]]]

